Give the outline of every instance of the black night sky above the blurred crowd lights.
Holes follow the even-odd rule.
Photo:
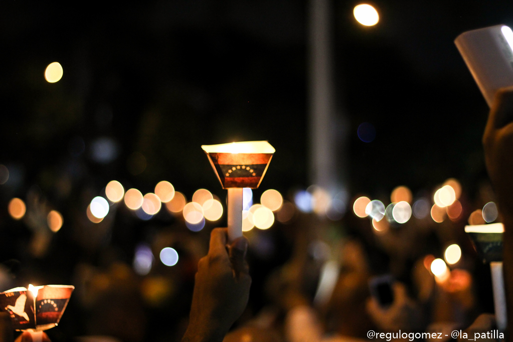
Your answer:
[[[471,190],[485,177],[487,107],[453,39],[513,24],[513,4],[376,2],[381,21],[371,28],[352,17],[355,4],[334,2],[332,11],[351,192],[400,184],[416,191],[451,176]],[[98,190],[116,178],[148,191],[168,179],[186,193],[215,192],[200,145],[235,139],[276,147],[265,188],[309,185],[306,3],[12,1],[0,12],[0,156],[24,171],[14,193],[32,184],[51,191],[66,168],[82,170],[76,182]],[[54,61],[64,77],[48,84],[43,72]],[[102,123],[104,112],[110,123]],[[372,143],[358,139],[362,122],[376,127]],[[86,143],[78,158],[68,152],[75,136]],[[120,148],[106,165],[88,157],[103,136]],[[137,176],[126,167],[134,151],[147,159]]]

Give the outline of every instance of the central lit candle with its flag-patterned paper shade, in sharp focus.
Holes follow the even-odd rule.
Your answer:
[[[203,145],[223,189],[228,190],[228,237],[242,236],[242,190],[257,189],[275,152],[266,141]]]

